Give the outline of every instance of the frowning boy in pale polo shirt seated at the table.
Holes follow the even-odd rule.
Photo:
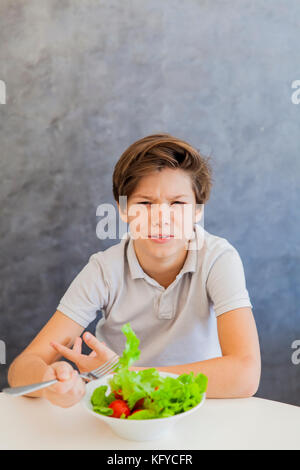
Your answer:
[[[208,398],[256,393],[260,350],[242,261],[227,240],[197,224],[211,184],[208,161],[169,134],[147,136],[122,154],[113,193],[130,230],[90,257],[55,314],[12,363],[11,386],[56,377],[57,384],[29,396],[72,406],[85,386],[58,359],[73,361],[80,371],[95,369],[122,353],[121,327],[130,322],[141,350],[133,370],[202,372]],[[126,196],[125,207],[120,196]],[[96,336],[83,335],[92,349],[83,355],[80,335],[97,310],[103,317]]]

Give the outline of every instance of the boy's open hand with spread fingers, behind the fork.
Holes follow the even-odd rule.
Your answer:
[[[56,343],[55,341],[52,341],[50,344],[62,356],[74,362],[80,372],[90,372],[91,370],[97,369],[97,367],[100,367],[104,362],[116,356],[114,351],[105,346],[104,342],[100,342],[91,333],[84,333],[83,339],[89,348],[92,349],[89,355],[81,353],[82,339],[79,336],[75,339],[72,349]]]

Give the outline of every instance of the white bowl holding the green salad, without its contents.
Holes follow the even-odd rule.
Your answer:
[[[169,372],[159,372],[161,377],[178,377],[177,374],[171,374]],[[160,439],[162,436],[168,434],[168,432],[173,428],[175,423],[185,416],[194,413],[196,410],[203,405],[205,401],[206,394],[203,394],[203,398],[198,405],[194,406],[190,410],[185,411],[184,413],[179,413],[168,418],[153,418],[153,419],[118,419],[112,418],[111,416],[101,415],[93,411],[93,405],[91,404],[91,396],[95,388],[100,387],[100,385],[107,385],[108,389],[106,394],[110,393],[110,387],[108,385],[108,380],[113,376],[107,375],[98,380],[93,380],[86,385],[86,393],[81,400],[83,407],[95,416],[98,419],[101,419],[106,424],[108,424],[111,429],[123,439],[129,439],[133,441],[150,441],[154,439]]]

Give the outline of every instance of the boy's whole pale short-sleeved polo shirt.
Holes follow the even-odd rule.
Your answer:
[[[165,366],[222,356],[216,317],[251,307],[244,268],[237,250],[225,239],[195,224],[185,263],[167,288],[139,264],[133,239],[90,256],[61,298],[57,310],[84,328],[97,311],[96,336],[121,355],[130,322],[140,339],[136,366]],[[197,249],[198,248],[198,249]]]

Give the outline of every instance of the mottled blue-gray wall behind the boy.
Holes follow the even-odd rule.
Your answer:
[[[119,156],[163,131],[213,157],[205,228],[244,263],[257,396],[300,405],[299,18],[298,0],[1,1],[0,387],[113,244],[96,237],[96,208],[113,202]]]

